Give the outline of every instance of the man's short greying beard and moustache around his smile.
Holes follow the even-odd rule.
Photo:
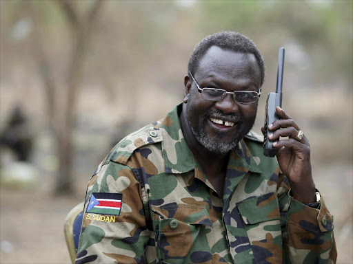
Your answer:
[[[234,124],[241,122],[241,118],[239,116],[234,116],[232,114],[227,115],[216,109],[210,109],[209,111],[207,111],[203,116],[203,120],[207,122],[211,115],[214,118],[231,120],[232,122],[234,122]],[[187,115],[187,116],[190,116],[190,115]],[[191,127],[192,134],[194,135],[196,140],[201,144],[201,146],[206,148],[211,153],[216,153],[221,155],[227,154],[230,150],[236,147],[236,145],[240,140],[240,139],[234,138],[232,142],[225,142],[223,140],[222,134],[210,136],[206,133],[205,128],[203,126],[201,126],[196,131],[194,129],[194,126],[192,126],[189,118],[187,118],[187,120]]]

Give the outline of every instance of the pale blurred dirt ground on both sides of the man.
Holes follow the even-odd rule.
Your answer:
[[[337,263],[353,263],[352,170],[330,166],[316,171],[316,180],[334,214]],[[332,183],[330,177],[336,175]],[[338,176],[337,176],[338,175]],[[84,195],[85,179],[76,197],[55,197],[48,190],[0,188],[0,263],[70,263],[63,236],[66,214]],[[317,183],[319,182],[319,184]],[[84,183],[84,184],[83,184]]]

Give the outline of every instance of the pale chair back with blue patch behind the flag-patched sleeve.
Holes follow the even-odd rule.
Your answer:
[[[72,264],[76,259],[77,248],[79,248],[79,237],[83,219],[83,206],[81,202],[70,210],[65,219],[63,231],[65,234],[66,245],[68,246]]]

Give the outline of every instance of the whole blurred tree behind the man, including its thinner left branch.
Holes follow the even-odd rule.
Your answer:
[[[83,74],[83,61],[88,51],[94,25],[101,10],[103,1],[96,0],[90,3],[88,11],[80,15],[74,1],[57,0],[54,2],[65,17],[68,28],[71,32],[70,45],[72,47],[72,56],[68,65],[68,74],[63,83],[65,87],[59,87],[52,78],[50,63],[43,53],[41,32],[37,31],[34,36],[34,53],[37,55],[37,64],[43,80],[43,87],[46,90],[46,101],[48,102],[48,122],[50,130],[54,134],[57,142],[57,151],[59,157],[59,171],[56,177],[55,192],[57,194],[70,194],[72,188],[72,159],[74,146],[72,142],[72,132],[74,127],[74,113],[77,105],[77,95],[79,92],[81,77]],[[36,21],[35,6],[31,8],[33,12],[34,23]],[[56,96],[57,89],[64,94],[61,109],[58,109],[60,98]]]

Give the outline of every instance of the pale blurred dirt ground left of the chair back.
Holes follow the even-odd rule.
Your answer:
[[[81,198],[53,197],[43,190],[0,191],[0,263],[70,263],[63,223]]]

